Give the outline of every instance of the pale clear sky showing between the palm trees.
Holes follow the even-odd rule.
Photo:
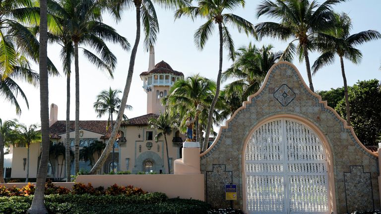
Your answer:
[[[240,15],[253,24],[266,21],[266,17],[257,19],[255,17],[255,9],[259,0],[246,0],[246,6],[243,9],[237,9],[235,14]],[[320,1],[321,2],[321,1]],[[352,18],[352,33],[364,30],[381,31],[381,0],[347,0],[335,7],[337,12],[346,12]],[[163,10],[159,6],[156,7],[160,24],[160,33],[155,46],[156,63],[164,60],[168,62],[174,70],[181,71],[185,77],[199,73],[210,79],[217,78],[218,72],[218,30],[215,29],[213,37],[209,39],[203,51],[197,50],[193,43],[193,33],[205,20],[197,19],[192,22],[191,19],[181,18],[174,21],[173,11]],[[119,34],[126,37],[133,45],[135,39],[135,13],[134,11],[126,11],[122,21],[115,23],[107,14],[104,15],[104,22],[115,27]],[[256,46],[263,44],[272,44],[274,51],[284,50],[287,43],[280,42],[271,38],[264,38],[261,41],[255,41],[253,37],[247,37],[246,34],[239,34],[237,30],[230,29],[235,42],[235,47],[239,48],[248,45],[250,42]],[[143,115],[146,113],[146,93],[142,88],[142,81],[139,74],[148,68],[148,53],[143,49],[143,39],[140,40],[138,52],[136,55],[135,68],[133,72],[132,85],[128,95],[127,103],[133,107],[132,111],[127,111],[129,118]],[[110,49],[118,58],[118,65],[115,70],[115,78],[110,79],[107,73],[99,70],[91,65],[80,53],[79,71],[80,71],[80,120],[96,120],[97,115],[93,109],[93,103],[102,90],[113,89],[123,91],[127,78],[127,69],[130,53],[123,51],[117,45],[110,45]],[[345,60],[345,70],[348,85],[353,85],[358,80],[379,79],[381,80],[381,41],[373,41],[359,46],[363,53],[362,63],[354,65]],[[61,60],[59,56],[60,46],[50,45],[48,47],[48,56],[55,63],[56,67],[62,71]],[[223,70],[228,68],[232,61],[228,61],[224,52]],[[310,54],[310,63],[312,64],[317,58],[318,53]],[[73,63],[74,64],[74,63]],[[306,67],[304,62],[294,60],[294,64],[301,72],[305,81],[307,81]],[[38,71],[38,66],[33,65],[33,69]],[[74,68],[72,68],[74,73]],[[324,67],[318,74],[313,76],[315,90],[328,90],[343,86],[339,60],[336,59],[335,64]],[[8,120],[16,118],[25,124],[40,123],[40,100],[39,89],[31,87],[25,83],[20,83],[24,90],[28,101],[29,109],[19,98],[22,114],[16,115],[15,108],[9,103],[1,102],[0,118]],[[74,120],[75,97],[74,97],[74,75],[71,78],[71,106],[70,119]],[[0,98],[3,99],[3,98]],[[66,111],[66,79],[64,74],[61,77],[49,78],[49,103],[58,105],[58,119],[65,119]],[[107,119],[107,116],[101,119]]]

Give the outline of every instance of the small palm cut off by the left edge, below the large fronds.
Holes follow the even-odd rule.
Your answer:
[[[15,134],[14,128],[16,127],[17,120],[5,120],[2,122],[0,118],[0,183],[5,183],[4,181],[4,145],[5,143],[10,143],[9,140],[12,139],[12,135]]]

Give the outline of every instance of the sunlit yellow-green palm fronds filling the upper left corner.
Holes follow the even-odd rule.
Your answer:
[[[16,107],[21,114],[17,102],[20,94],[29,108],[28,101],[17,80],[25,80],[37,85],[38,75],[30,68],[29,59],[39,61],[39,42],[28,26],[39,19],[38,10],[33,0],[0,1],[0,95]],[[57,75],[58,71],[48,59],[48,69]],[[13,74],[16,72],[16,74]],[[37,80],[37,81],[36,81]]]

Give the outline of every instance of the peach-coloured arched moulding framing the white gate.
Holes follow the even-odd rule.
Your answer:
[[[260,128],[262,125],[278,120],[278,119],[289,119],[296,121],[298,123],[303,124],[304,126],[310,128],[314,134],[318,137],[321,145],[323,146],[323,150],[325,152],[325,157],[327,158],[327,174],[328,174],[328,211],[329,213],[335,212],[336,211],[336,194],[335,194],[335,186],[334,186],[334,168],[333,168],[333,156],[332,156],[332,150],[331,146],[328,143],[328,139],[325,137],[325,135],[320,131],[317,125],[315,125],[313,122],[310,120],[294,115],[294,114],[277,114],[277,115],[272,115],[268,116],[262,120],[260,120],[257,124],[253,126],[253,128],[250,130],[249,134],[246,136],[245,141],[243,143],[242,147],[242,162],[241,162],[241,172],[242,172],[242,202],[243,202],[243,212],[247,213],[246,210],[246,172],[245,172],[245,152],[246,152],[246,147],[252,138],[254,132]]]

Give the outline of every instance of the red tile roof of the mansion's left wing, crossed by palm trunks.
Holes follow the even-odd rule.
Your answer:
[[[108,139],[111,128],[106,131],[107,120],[80,120],[79,128],[104,135]],[[70,132],[74,131],[74,121],[70,121]],[[59,135],[66,132],[66,120],[59,120],[49,127],[50,139],[60,139]]]

